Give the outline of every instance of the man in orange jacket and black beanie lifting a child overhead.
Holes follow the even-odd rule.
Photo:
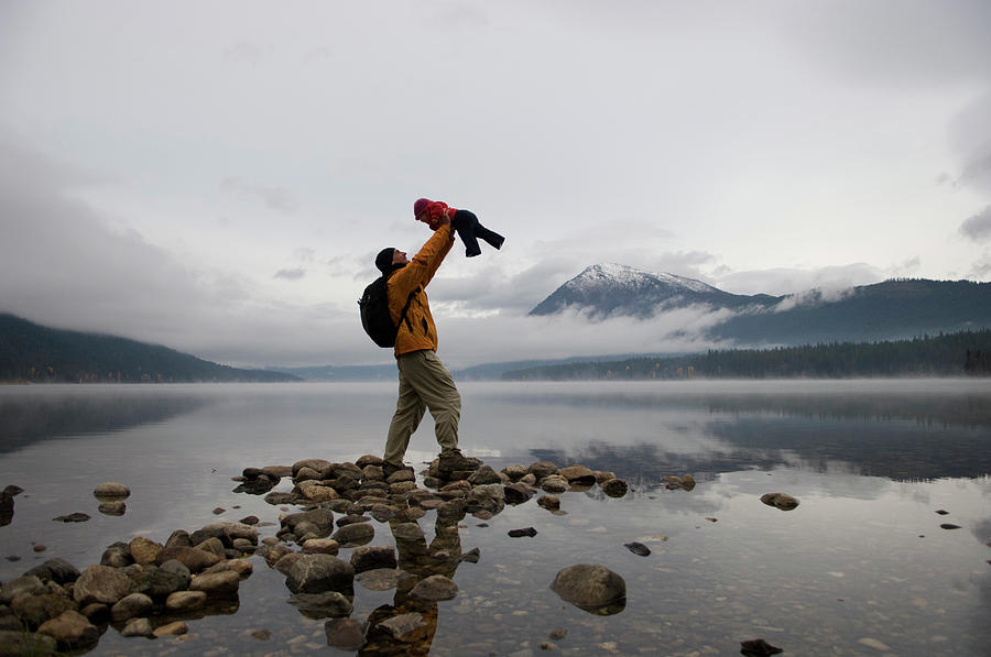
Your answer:
[[[431,223],[426,212],[416,218]],[[434,416],[434,430],[440,445],[440,471],[449,473],[470,466],[458,449],[461,396],[450,372],[437,358],[437,328],[424,291],[454,244],[448,213],[443,212],[435,225],[434,236],[412,261],[399,249],[383,249],[375,258],[375,266],[389,276],[385,284],[389,311],[399,325],[395,364],[400,386],[395,414],[385,439],[383,470],[386,477],[404,468],[403,456],[410,436],[420,426],[427,408]]]

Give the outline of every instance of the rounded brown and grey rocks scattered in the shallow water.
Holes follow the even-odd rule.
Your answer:
[[[110,629],[124,637],[184,640],[197,618],[236,610],[240,583],[262,562],[284,576],[286,601],[301,614],[327,618],[328,646],[425,655],[437,628],[438,602],[458,595],[455,570],[482,557],[477,547],[461,549],[458,523],[466,515],[487,521],[507,505],[532,500],[551,514],[564,514],[562,495],[569,492],[598,486],[607,496],[622,497],[630,490],[614,473],[580,464],[558,468],[537,461],[496,471],[478,459],[466,461],[461,470],[445,471],[434,460],[420,483],[412,468],[386,477],[382,460],[370,455],[355,462],[306,459],[246,468],[233,478],[235,492],[263,495],[281,507],[274,536],[260,539],[258,530],[274,522],[247,516],[192,532],[176,529],[162,543],[144,536],[115,543],[99,563],[81,572],[61,558],[50,559],[0,587],[0,657],[86,651]],[[275,492],[286,478],[292,491]],[[691,475],[668,478],[666,485],[694,486]],[[11,516],[20,492],[8,486],[0,500]],[[129,494],[115,482],[94,490],[100,511],[108,514],[123,513]],[[797,506],[793,497],[774,495],[764,502],[782,510]],[[429,544],[421,526],[427,514],[434,522]],[[55,519],[85,522],[88,516]],[[391,536],[383,539],[386,529]],[[509,532],[521,540],[536,534],[533,527]],[[627,547],[650,555],[642,544]],[[366,620],[351,617],[356,582],[373,591],[394,590],[393,604]],[[591,614],[614,614],[625,606],[625,582],[601,565],[575,563],[547,584],[563,601]],[[555,649],[553,640],[566,635],[566,628],[555,628],[552,640],[540,647]]]

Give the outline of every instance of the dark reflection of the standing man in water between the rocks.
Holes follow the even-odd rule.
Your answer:
[[[383,604],[368,616],[367,643],[358,651],[359,655],[427,655],[434,634],[437,632],[437,603],[417,600],[410,591],[417,582],[432,574],[443,574],[454,579],[461,558],[461,538],[458,523],[465,517],[464,502],[449,502],[437,510],[434,524],[434,539],[427,545],[426,537],[405,537],[395,535],[395,527],[401,522],[390,522],[399,552],[399,568],[410,573],[403,577],[395,589],[393,604]],[[409,522],[409,521],[406,521]],[[403,614],[420,614],[422,621],[411,618],[410,629],[396,637],[379,624]]]

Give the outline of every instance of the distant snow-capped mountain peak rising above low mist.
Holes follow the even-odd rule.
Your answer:
[[[781,297],[723,292],[695,278],[655,274],[622,264],[596,264],[555,289],[531,315],[553,315],[565,308],[591,317],[631,315],[647,318],[657,311],[705,304],[712,308],[769,307]]]

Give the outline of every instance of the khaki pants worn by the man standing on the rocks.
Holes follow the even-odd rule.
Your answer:
[[[458,449],[458,420],[461,418],[461,395],[450,372],[429,349],[404,353],[395,360],[400,390],[395,415],[385,439],[386,463],[403,464],[410,436],[420,426],[427,408],[434,416],[434,431],[440,453]]]

